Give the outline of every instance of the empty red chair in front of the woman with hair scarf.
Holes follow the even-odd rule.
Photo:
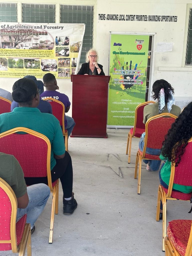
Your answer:
[[[155,103],[155,101],[146,101],[136,106],[134,126],[133,128],[130,129],[127,137],[126,155],[128,154],[128,149],[129,149],[129,155],[128,155],[129,164],[130,164],[130,158],[131,158],[132,138],[133,137],[140,138],[141,134],[145,131],[145,124],[143,123],[143,109],[146,105],[153,104],[153,103]]]

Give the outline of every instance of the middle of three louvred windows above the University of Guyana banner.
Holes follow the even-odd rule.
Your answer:
[[[22,22],[55,23],[55,5],[22,4]]]

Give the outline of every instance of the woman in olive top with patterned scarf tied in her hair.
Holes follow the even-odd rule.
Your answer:
[[[160,79],[154,82],[153,84],[153,90],[152,90],[153,96],[152,98],[154,100],[157,100],[154,104],[149,104],[144,107],[143,110],[143,123],[145,124],[147,120],[155,115],[161,114],[161,113],[171,113],[173,115],[179,116],[181,109],[174,105],[174,89],[164,79]],[[143,151],[144,147],[144,135],[142,134],[142,137],[139,142],[139,148],[141,151]],[[146,153],[151,155],[160,155],[161,154],[161,148],[154,149],[154,148],[146,148]],[[160,160],[143,160],[145,164],[147,164],[146,169],[148,171],[157,171],[160,167],[161,161]]]

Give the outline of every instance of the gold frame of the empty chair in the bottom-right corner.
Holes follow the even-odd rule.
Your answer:
[[[191,231],[189,235],[189,240],[187,243],[187,248],[185,252],[185,256],[191,256],[192,254],[192,226]],[[172,242],[169,240],[169,238],[165,237],[165,256],[181,256],[181,254],[176,250]]]

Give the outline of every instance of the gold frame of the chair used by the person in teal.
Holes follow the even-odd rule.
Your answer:
[[[3,132],[0,134],[0,138],[5,137],[7,135],[18,133],[18,132],[25,132],[31,135],[34,135],[38,138],[41,138],[47,143],[47,179],[48,179],[48,186],[50,188],[50,192],[53,193],[52,195],[52,206],[51,206],[51,223],[50,223],[50,233],[49,233],[49,243],[52,243],[53,240],[53,227],[54,227],[54,215],[58,214],[58,200],[59,200],[59,180],[57,180],[57,183],[54,187],[52,187],[52,180],[51,180],[51,143],[49,139],[36,131],[33,131],[31,129],[25,128],[25,127],[16,127],[14,129],[11,129],[9,131]]]

